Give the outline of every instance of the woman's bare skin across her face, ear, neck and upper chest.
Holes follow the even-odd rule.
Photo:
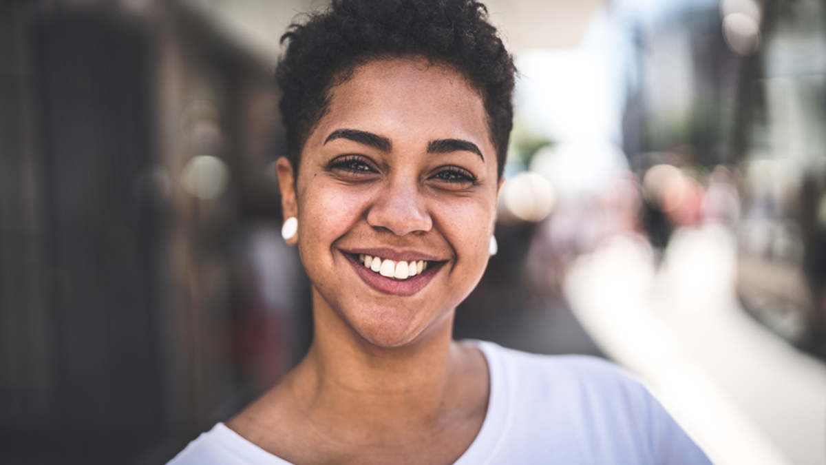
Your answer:
[[[467,144],[434,145],[445,140]],[[297,178],[286,159],[278,176],[285,217],[299,220],[315,338],[227,426],[297,465],[454,463],[490,396],[482,353],[451,339],[456,305],[487,266],[501,187],[482,98],[444,66],[370,62],[334,89]],[[354,260],[371,251],[433,269],[412,290],[372,285]]]

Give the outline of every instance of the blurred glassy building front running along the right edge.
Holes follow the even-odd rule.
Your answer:
[[[826,7],[775,0],[763,11],[733,140],[743,169],[740,289],[769,328],[826,359]]]

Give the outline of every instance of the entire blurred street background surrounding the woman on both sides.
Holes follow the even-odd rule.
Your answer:
[[[606,357],[718,464],[826,464],[826,2],[495,0],[457,338]],[[161,464],[301,359],[278,38],[319,0],[0,2],[0,462]]]

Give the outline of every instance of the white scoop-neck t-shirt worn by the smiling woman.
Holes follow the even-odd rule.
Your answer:
[[[479,342],[491,372],[482,429],[454,465],[705,465],[705,454],[638,381],[610,362]],[[291,465],[224,424],[168,465]]]

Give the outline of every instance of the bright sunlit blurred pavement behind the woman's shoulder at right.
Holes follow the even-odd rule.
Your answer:
[[[615,237],[567,278],[577,317],[718,464],[826,463],[826,365],[757,324],[735,293],[733,233],[676,232],[655,270]]]

